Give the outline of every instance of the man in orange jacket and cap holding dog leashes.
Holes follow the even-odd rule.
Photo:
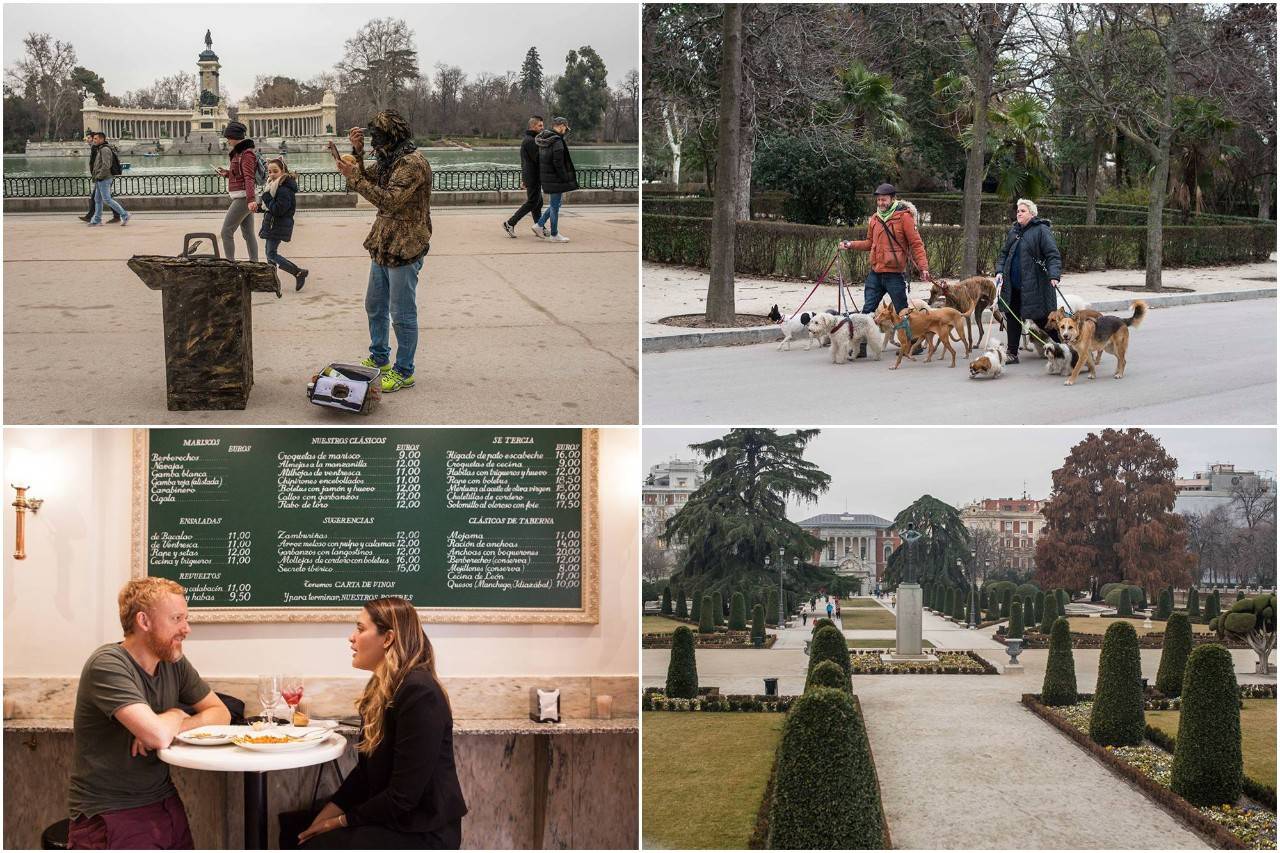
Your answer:
[[[910,264],[922,279],[931,280],[929,259],[915,216],[897,200],[897,188],[891,183],[876,187],[876,213],[867,220],[867,240],[842,240],[840,248],[872,254],[872,270],[863,286],[863,314],[874,314],[886,293],[897,311],[906,307],[905,273]],[[865,342],[858,347],[858,357],[867,357]]]

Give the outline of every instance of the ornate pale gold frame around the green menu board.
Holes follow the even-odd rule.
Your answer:
[[[392,428],[394,429],[394,428]],[[506,429],[506,428],[504,428]],[[534,429],[534,428],[531,428]],[[147,576],[150,429],[133,430],[133,546],[131,575]],[[419,607],[434,624],[595,625],[600,621],[599,430],[582,429],[581,607]],[[191,607],[192,622],[349,622],[349,607]]]

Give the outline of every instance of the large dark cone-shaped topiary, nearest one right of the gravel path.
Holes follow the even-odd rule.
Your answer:
[[[1187,661],[1169,786],[1193,806],[1234,806],[1240,798],[1244,758],[1234,670],[1231,653],[1217,643],[1198,646]]]

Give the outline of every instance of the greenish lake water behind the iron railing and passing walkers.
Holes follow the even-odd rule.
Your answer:
[[[573,165],[580,169],[618,167],[635,168],[640,163],[639,147],[579,147],[572,146]],[[269,155],[278,154],[275,146],[268,146]],[[422,149],[435,170],[444,169],[512,169],[520,168],[520,149]],[[211,172],[214,167],[227,165],[225,155],[209,156],[157,156],[125,155],[122,163],[128,164],[129,174],[198,174]],[[328,154],[291,154],[289,167],[296,172],[333,172],[333,159]],[[4,155],[4,174],[6,178],[29,178],[42,175],[82,175],[86,173],[88,158],[28,158],[23,154]]]

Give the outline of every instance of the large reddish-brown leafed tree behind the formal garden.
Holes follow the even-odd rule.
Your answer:
[[[1053,471],[1036,566],[1044,588],[1185,585],[1196,557],[1174,512],[1178,460],[1143,429],[1089,433]]]

